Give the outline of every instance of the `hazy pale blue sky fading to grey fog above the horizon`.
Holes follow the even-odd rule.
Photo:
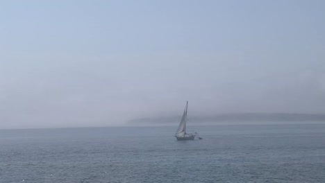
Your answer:
[[[325,1],[0,1],[0,129],[325,112]]]

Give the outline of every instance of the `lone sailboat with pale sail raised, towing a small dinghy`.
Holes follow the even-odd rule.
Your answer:
[[[178,129],[176,131],[175,137],[178,141],[188,141],[194,140],[195,134],[186,133],[186,121],[188,121],[188,101],[186,101],[186,107],[183,112],[181,123],[179,123]]]

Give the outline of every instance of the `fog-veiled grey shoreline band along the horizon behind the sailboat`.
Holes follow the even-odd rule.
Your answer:
[[[76,125],[76,126],[24,126],[20,128],[0,128],[0,130],[35,130],[35,129],[65,129],[65,128],[128,128],[151,126],[176,126],[181,116],[156,116],[133,119],[115,125]],[[210,116],[189,116],[190,126],[198,125],[302,125],[325,124],[325,114],[292,114],[292,113],[242,113],[216,114]]]

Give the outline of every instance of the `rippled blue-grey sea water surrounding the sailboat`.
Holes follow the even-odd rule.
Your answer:
[[[0,182],[325,182],[325,124],[0,130]]]

